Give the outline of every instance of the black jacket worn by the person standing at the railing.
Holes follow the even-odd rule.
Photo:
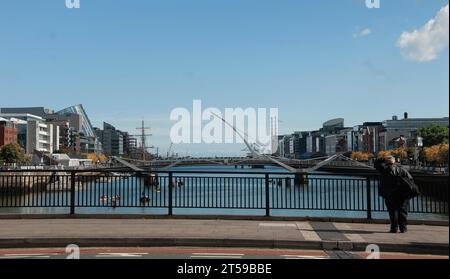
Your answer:
[[[381,174],[378,192],[383,198],[400,198],[402,191],[406,191],[399,185],[399,178],[404,177],[413,180],[411,174],[402,166],[386,164],[384,159],[375,161],[375,169]]]

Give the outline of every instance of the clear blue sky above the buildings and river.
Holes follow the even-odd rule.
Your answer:
[[[144,118],[161,152],[170,111],[193,99],[278,107],[281,132],[335,117],[353,126],[405,111],[448,116],[448,9],[435,57],[398,47],[448,0],[381,0],[380,9],[364,0],[81,0],[72,10],[64,2],[0,0],[0,106],[82,103],[95,125],[133,133]],[[423,51],[421,38],[406,51]]]

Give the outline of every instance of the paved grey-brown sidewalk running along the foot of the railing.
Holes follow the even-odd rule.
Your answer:
[[[448,255],[448,226],[188,219],[5,219],[0,247],[197,246],[381,251]]]

